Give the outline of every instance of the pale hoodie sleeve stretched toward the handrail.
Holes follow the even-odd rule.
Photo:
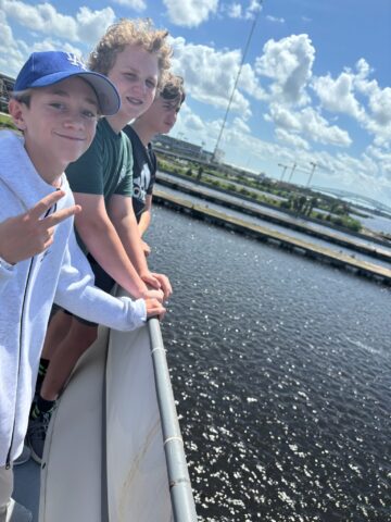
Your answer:
[[[60,272],[54,302],[87,321],[130,331],[147,320],[143,299],[116,298],[93,286],[93,273],[71,233]]]

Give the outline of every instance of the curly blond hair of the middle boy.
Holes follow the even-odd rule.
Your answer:
[[[97,47],[89,55],[89,69],[108,75],[113,69],[116,57],[126,46],[140,46],[156,54],[160,77],[171,66],[172,47],[167,44],[166,29],[155,29],[150,18],[122,18],[111,25]]]

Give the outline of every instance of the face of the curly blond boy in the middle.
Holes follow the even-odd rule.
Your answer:
[[[121,109],[115,119],[125,126],[151,105],[157,86],[157,58],[140,46],[126,46],[116,57],[108,77],[121,96]]]

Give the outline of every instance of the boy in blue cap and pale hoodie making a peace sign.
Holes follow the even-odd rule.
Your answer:
[[[74,54],[37,52],[9,104],[23,138],[0,134],[0,522],[31,520],[11,499],[12,463],[23,448],[53,301],[123,331],[164,313],[156,299],[116,299],[96,288],[74,236],[73,216],[81,208],[64,170],[90,146],[99,115],[118,109],[105,76]]]

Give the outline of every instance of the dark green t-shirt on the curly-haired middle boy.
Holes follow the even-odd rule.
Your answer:
[[[133,196],[133,153],[130,140],[116,134],[102,117],[89,149],[65,171],[74,192]]]

